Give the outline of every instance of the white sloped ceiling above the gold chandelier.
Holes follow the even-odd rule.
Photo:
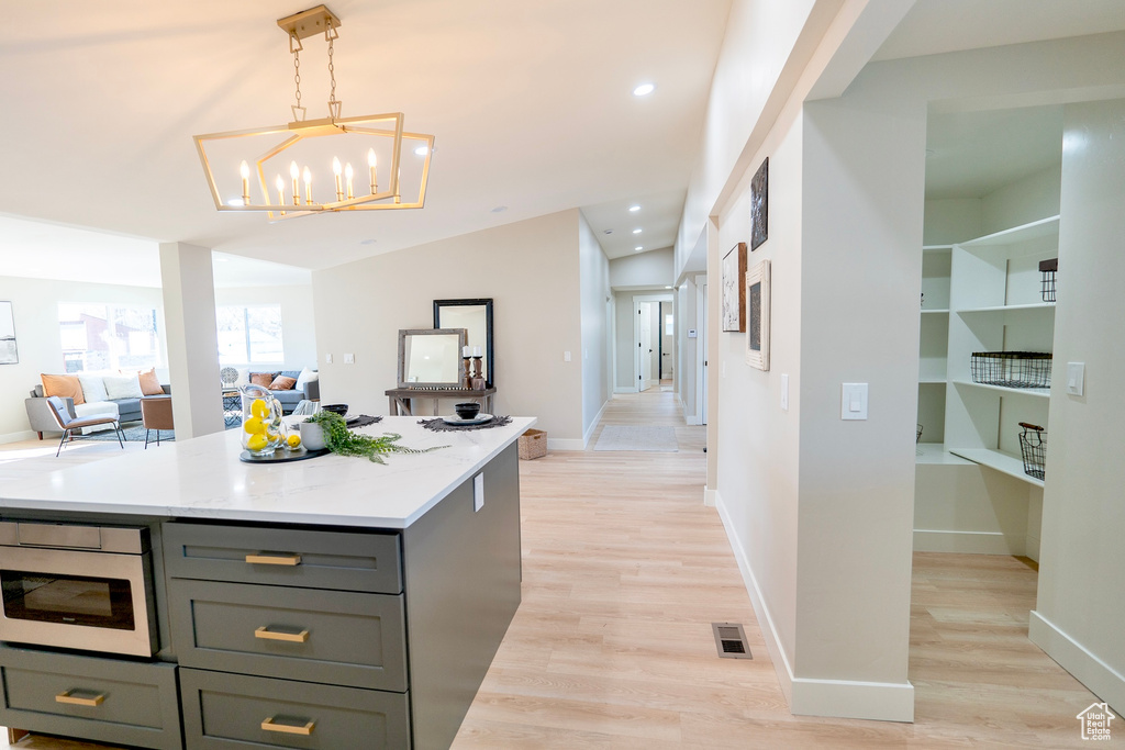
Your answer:
[[[191,136],[291,119],[276,20],[313,4],[9,3],[2,206],[50,224],[0,250],[22,237],[24,254],[56,244],[128,257],[181,241],[320,269],[573,208],[612,253],[673,243],[730,0],[331,0],[343,115],[403,111],[407,129],[436,137],[425,208],[278,224],[220,214]],[[302,54],[310,118],[326,114],[324,49],[316,37]],[[633,97],[644,81],[656,92]],[[632,202],[642,211],[615,215]],[[114,236],[42,236],[61,225]],[[111,265],[124,281],[130,264]],[[141,265],[148,281],[135,282],[151,283]]]

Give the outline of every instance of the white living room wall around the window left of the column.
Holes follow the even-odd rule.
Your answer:
[[[27,422],[24,399],[39,383],[39,373],[57,374],[64,371],[58,302],[112,302],[151,307],[158,310],[161,329],[164,325],[161,290],[150,287],[0,277],[0,299],[12,304],[19,352],[18,364],[0,365],[0,392],[8,395],[8,398],[0,400],[0,442],[35,436]],[[161,350],[161,369],[164,369],[168,367],[168,353],[163,335]]]

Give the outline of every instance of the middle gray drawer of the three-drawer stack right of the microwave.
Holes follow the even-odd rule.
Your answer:
[[[184,667],[406,689],[400,594],[178,578],[168,590],[172,645]]]

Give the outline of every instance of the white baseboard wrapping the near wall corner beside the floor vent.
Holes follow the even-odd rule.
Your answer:
[[[774,663],[777,683],[793,714],[806,716],[835,716],[840,719],[872,719],[876,721],[912,722],[914,685],[906,683],[864,683],[856,680],[809,679],[794,677],[790,660],[781,648],[781,638],[765,606],[762,589],[750,569],[749,558],[734,532],[734,525],[719,490],[712,494],[719,517],[727,530],[738,570],[750,595],[750,604],[758,617],[766,650]]]

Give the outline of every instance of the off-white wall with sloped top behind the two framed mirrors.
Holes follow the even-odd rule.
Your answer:
[[[490,297],[497,412],[538,416],[552,446],[580,448],[579,273],[577,209],[314,271],[321,397],[387,414],[398,329],[433,327],[434,299]]]

